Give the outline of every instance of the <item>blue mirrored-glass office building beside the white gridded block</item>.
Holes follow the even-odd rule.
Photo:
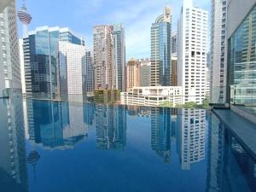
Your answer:
[[[59,42],[84,45],[84,40],[68,28],[38,27],[23,39],[26,68],[26,94],[55,98],[60,96]]]

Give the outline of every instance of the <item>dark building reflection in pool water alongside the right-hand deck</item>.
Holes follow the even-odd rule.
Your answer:
[[[218,118],[209,122],[207,192],[255,191],[256,161]]]

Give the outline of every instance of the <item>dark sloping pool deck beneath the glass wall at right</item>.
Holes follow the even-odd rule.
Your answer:
[[[256,160],[256,125],[230,109],[213,109],[212,111]]]

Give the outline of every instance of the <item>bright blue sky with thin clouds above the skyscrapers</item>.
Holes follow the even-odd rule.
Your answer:
[[[29,31],[38,26],[70,27],[92,45],[92,27],[122,23],[125,26],[126,58],[150,57],[150,26],[163,13],[166,2],[172,7],[172,31],[177,31],[177,18],[183,0],[26,0],[32,15]],[[17,0],[17,9],[21,7]],[[207,9],[210,0],[194,0],[194,5]],[[19,22],[19,32],[22,27]]]

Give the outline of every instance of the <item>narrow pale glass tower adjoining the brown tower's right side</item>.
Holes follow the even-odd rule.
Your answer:
[[[114,89],[125,91],[125,30],[121,24],[113,25],[113,51]]]

